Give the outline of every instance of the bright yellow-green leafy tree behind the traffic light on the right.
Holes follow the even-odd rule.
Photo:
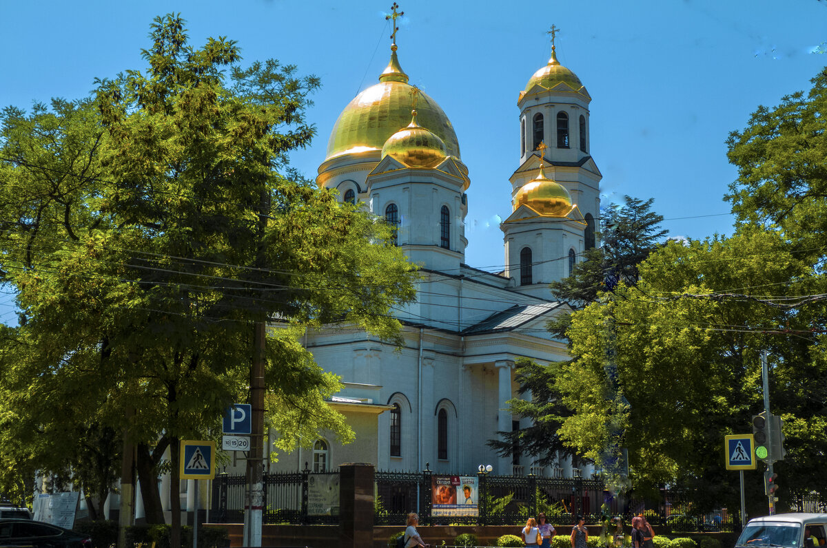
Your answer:
[[[736,502],[720,447],[725,434],[748,431],[762,408],[762,349],[772,355],[774,412],[801,431],[786,428],[791,455],[778,469],[796,487],[823,485],[824,471],[798,453],[825,426],[824,400],[814,400],[827,381],[814,334],[814,321],[823,320],[815,309],[791,314],[762,300],[768,291],[776,303],[806,293],[813,283],[807,257],[774,231],[744,226],[732,238],[672,242],[640,264],[640,273],[636,287],[620,286],[613,300],[572,317],[575,359],[556,379],[573,411],[559,431],[563,443],[595,459],[609,440],[606,417],[617,410],[602,388],[600,328],[610,316],[618,326],[619,384],[629,401],[624,446],[636,488],[669,483],[691,488],[702,506]]]

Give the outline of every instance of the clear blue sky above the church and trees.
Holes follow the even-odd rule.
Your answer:
[[[313,177],[339,112],[387,64],[391,3],[0,0],[0,105],[83,97],[96,77],[143,69],[152,18],[180,12],[194,45],[228,36],[245,63],[272,57],[322,79],[309,111],[318,136],[293,155]],[[466,262],[480,268],[504,262],[518,93],[547,62],[552,23],[562,29],[558,59],[592,97],[590,152],[605,202],[655,198],[672,236],[732,232],[722,199],[736,175],[729,131],[759,104],[809,89],[827,64],[812,53],[827,50],[819,0],[400,3],[400,63],[451,118],[470,170]]]

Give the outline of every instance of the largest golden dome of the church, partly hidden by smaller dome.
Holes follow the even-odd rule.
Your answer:
[[[391,46],[390,63],[379,77],[379,83],[356,95],[339,115],[330,141],[327,157],[382,150],[385,141],[410,121],[411,90],[408,75],[399,66],[396,45]],[[460,145],[451,121],[437,102],[422,91],[418,92],[419,123],[427,127],[444,143],[447,155],[460,157]]]

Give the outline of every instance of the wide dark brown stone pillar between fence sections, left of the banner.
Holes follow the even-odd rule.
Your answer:
[[[339,548],[373,546],[373,465],[339,465]]]

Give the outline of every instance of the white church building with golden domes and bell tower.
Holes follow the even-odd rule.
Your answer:
[[[469,474],[483,464],[495,474],[569,476],[565,461],[541,469],[529,455],[496,455],[486,441],[519,427],[506,404],[519,388],[515,361],[568,359],[566,342],[545,328],[567,310],[548,284],[595,245],[601,175],[590,155],[589,93],[553,46],[519,92],[521,153],[512,213],[500,225],[506,266],[492,274],[466,264],[471,179],[451,121],[408,80],[394,44],[379,82],[338,117],[316,179],[394,225],[396,244],[418,264],[416,301],[394,311],[404,346],[354,330],[308,331],[304,344],[318,364],[342,377],[332,406],[356,441],[323,438],[313,450],[280,455],[271,469],[370,462],[413,471],[428,463],[437,473]]]

